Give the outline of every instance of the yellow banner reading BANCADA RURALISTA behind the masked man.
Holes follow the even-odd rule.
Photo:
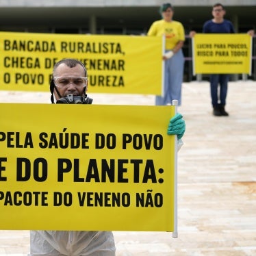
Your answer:
[[[162,38],[0,32],[0,90],[49,91],[64,57],[88,68],[90,92],[162,94]]]

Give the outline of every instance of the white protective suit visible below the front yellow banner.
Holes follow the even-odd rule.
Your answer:
[[[111,231],[30,231],[30,256],[114,256]]]

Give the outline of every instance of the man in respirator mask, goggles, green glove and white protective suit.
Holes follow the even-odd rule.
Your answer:
[[[87,97],[86,67],[75,59],[64,59],[53,67],[51,102],[91,104]],[[185,132],[181,114],[170,119],[167,133],[177,134],[179,144]],[[111,231],[31,231],[29,255],[114,256],[116,252]]]

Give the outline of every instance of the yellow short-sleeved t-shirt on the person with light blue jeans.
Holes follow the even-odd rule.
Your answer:
[[[163,35],[166,37],[166,50],[172,50],[177,42],[185,41],[184,27],[179,21],[155,21],[147,33],[147,36]]]

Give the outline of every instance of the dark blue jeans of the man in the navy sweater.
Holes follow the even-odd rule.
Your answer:
[[[226,105],[229,75],[210,75],[209,81],[211,88],[212,106],[216,107],[218,103],[220,103],[220,105]],[[220,84],[220,97],[218,97],[218,84]]]

